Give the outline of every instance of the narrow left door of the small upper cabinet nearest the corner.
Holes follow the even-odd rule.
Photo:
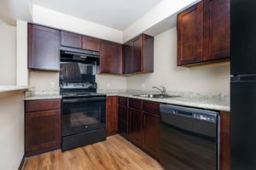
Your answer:
[[[131,73],[131,44],[124,45],[124,73]]]

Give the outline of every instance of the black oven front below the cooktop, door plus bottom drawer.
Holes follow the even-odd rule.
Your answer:
[[[106,96],[62,99],[62,150],[106,139]]]

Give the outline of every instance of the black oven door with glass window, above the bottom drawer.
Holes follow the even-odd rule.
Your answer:
[[[105,128],[105,111],[105,101],[63,102],[62,135]]]

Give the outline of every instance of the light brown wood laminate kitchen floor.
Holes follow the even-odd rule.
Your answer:
[[[119,135],[74,150],[26,159],[23,170],[163,170],[158,161]]]

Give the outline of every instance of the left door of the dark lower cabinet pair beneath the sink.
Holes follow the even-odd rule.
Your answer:
[[[143,139],[143,114],[142,111],[137,111],[135,109],[128,109],[130,116],[130,133],[129,138],[135,144],[141,145]]]

